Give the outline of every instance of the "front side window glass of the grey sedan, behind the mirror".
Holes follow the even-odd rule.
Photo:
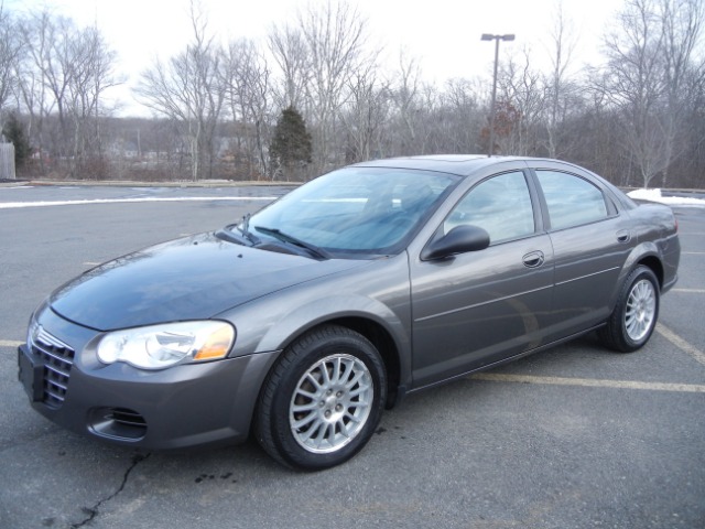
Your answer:
[[[487,230],[490,245],[533,234],[533,208],[524,174],[500,174],[473,187],[443,223],[443,233],[463,224]]]

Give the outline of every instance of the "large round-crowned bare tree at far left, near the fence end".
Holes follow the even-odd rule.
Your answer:
[[[53,159],[68,166],[72,176],[82,176],[88,160],[102,156],[100,102],[115,85],[116,54],[96,28],[78,29],[46,10],[30,13],[17,31],[23,53],[13,64],[14,93],[18,106],[30,116],[40,160],[44,162],[48,145]],[[57,125],[48,129],[51,134],[47,123]],[[91,173],[99,169],[90,165]]]

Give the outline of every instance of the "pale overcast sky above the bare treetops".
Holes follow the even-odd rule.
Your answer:
[[[326,0],[312,0],[318,4]],[[419,58],[426,80],[489,75],[494,44],[482,33],[514,33],[502,46],[531,50],[536,64],[546,63],[546,42],[556,6],[574,24],[575,67],[596,62],[601,34],[623,0],[351,0],[367,19],[372,44],[383,46],[391,65],[404,47]],[[305,1],[202,0],[210,28],[224,41],[263,37],[273,23],[293,19]],[[4,0],[6,9],[22,12],[48,7],[78,25],[97,23],[118,52],[118,72],[126,89],[154,57],[169,58],[191,39],[188,0]],[[127,101],[126,101],[127,102]]]

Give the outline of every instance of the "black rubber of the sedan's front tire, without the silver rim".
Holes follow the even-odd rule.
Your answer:
[[[276,388],[270,410],[272,440],[278,452],[295,468],[316,471],[339,465],[367,444],[379,423],[387,391],[384,366],[379,353],[361,335],[344,327],[329,327],[318,332],[315,338],[308,336],[300,341],[285,354],[294,358],[292,358],[291,369],[283,375]],[[372,377],[373,402],[362,430],[352,441],[329,454],[316,454],[306,451],[294,439],[289,423],[289,408],[301,377],[318,360],[332,354],[354,356],[366,365]]]

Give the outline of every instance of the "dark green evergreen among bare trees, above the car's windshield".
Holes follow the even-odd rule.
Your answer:
[[[304,118],[294,107],[284,109],[276,121],[270,154],[275,165],[284,170],[288,176],[300,176],[311,163],[311,134],[306,130]]]

